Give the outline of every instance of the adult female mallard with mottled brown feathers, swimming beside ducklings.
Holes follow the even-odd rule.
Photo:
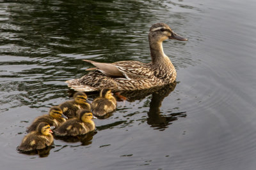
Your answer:
[[[83,92],[100,89],[141,90],[173,83],[176,79],[176,70],[171,60],[163,52],[162,43],[165,39],[188,40],[173,32],[166,24],[154,24],[150,27],[148,34],[152,62],[142,63],[127,60],[100,63],[84,60],[96,66],[87,69],[94,71],[81,78],[68,80],[66,83],[68,83],[68,87]]]

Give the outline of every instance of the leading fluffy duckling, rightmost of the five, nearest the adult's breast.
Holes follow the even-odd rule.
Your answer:
[[[112,96],[111,90],[100,90],[100,96],[92,102],[92,112],[97,117],[103,117],[116,109],[116,99]]]

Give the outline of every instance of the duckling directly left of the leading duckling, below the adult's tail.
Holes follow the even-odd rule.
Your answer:
[[[88,101],[87,96],[84,92],[76,92],[74,94],[74,99],[71,101],[66,101],[59,105],[63,114],[68,118],[79,117],[81,110],[91,110],[90,101]]]

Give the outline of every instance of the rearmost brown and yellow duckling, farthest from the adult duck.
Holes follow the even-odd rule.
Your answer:
[[[17,150],[20,152],[30,152],[51,146],[53,144],[51,129],[53,128],[54,127],[50,127],[49,124],[41,122],[37,125],[36,131],[30,132],[22,139],[22,142],[20,146],[17,147]]]

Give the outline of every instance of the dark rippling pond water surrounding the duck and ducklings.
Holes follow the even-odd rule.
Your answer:
[[[0,1],[1,169],[256,169],[256,2]],[[87,141],[49,155],[16,147],[34,118],[70,99],[90,64],[150,62],[148,30],[164,22],[171,89],[118,101]],[[90,99],[92,97],[89,96]]]

